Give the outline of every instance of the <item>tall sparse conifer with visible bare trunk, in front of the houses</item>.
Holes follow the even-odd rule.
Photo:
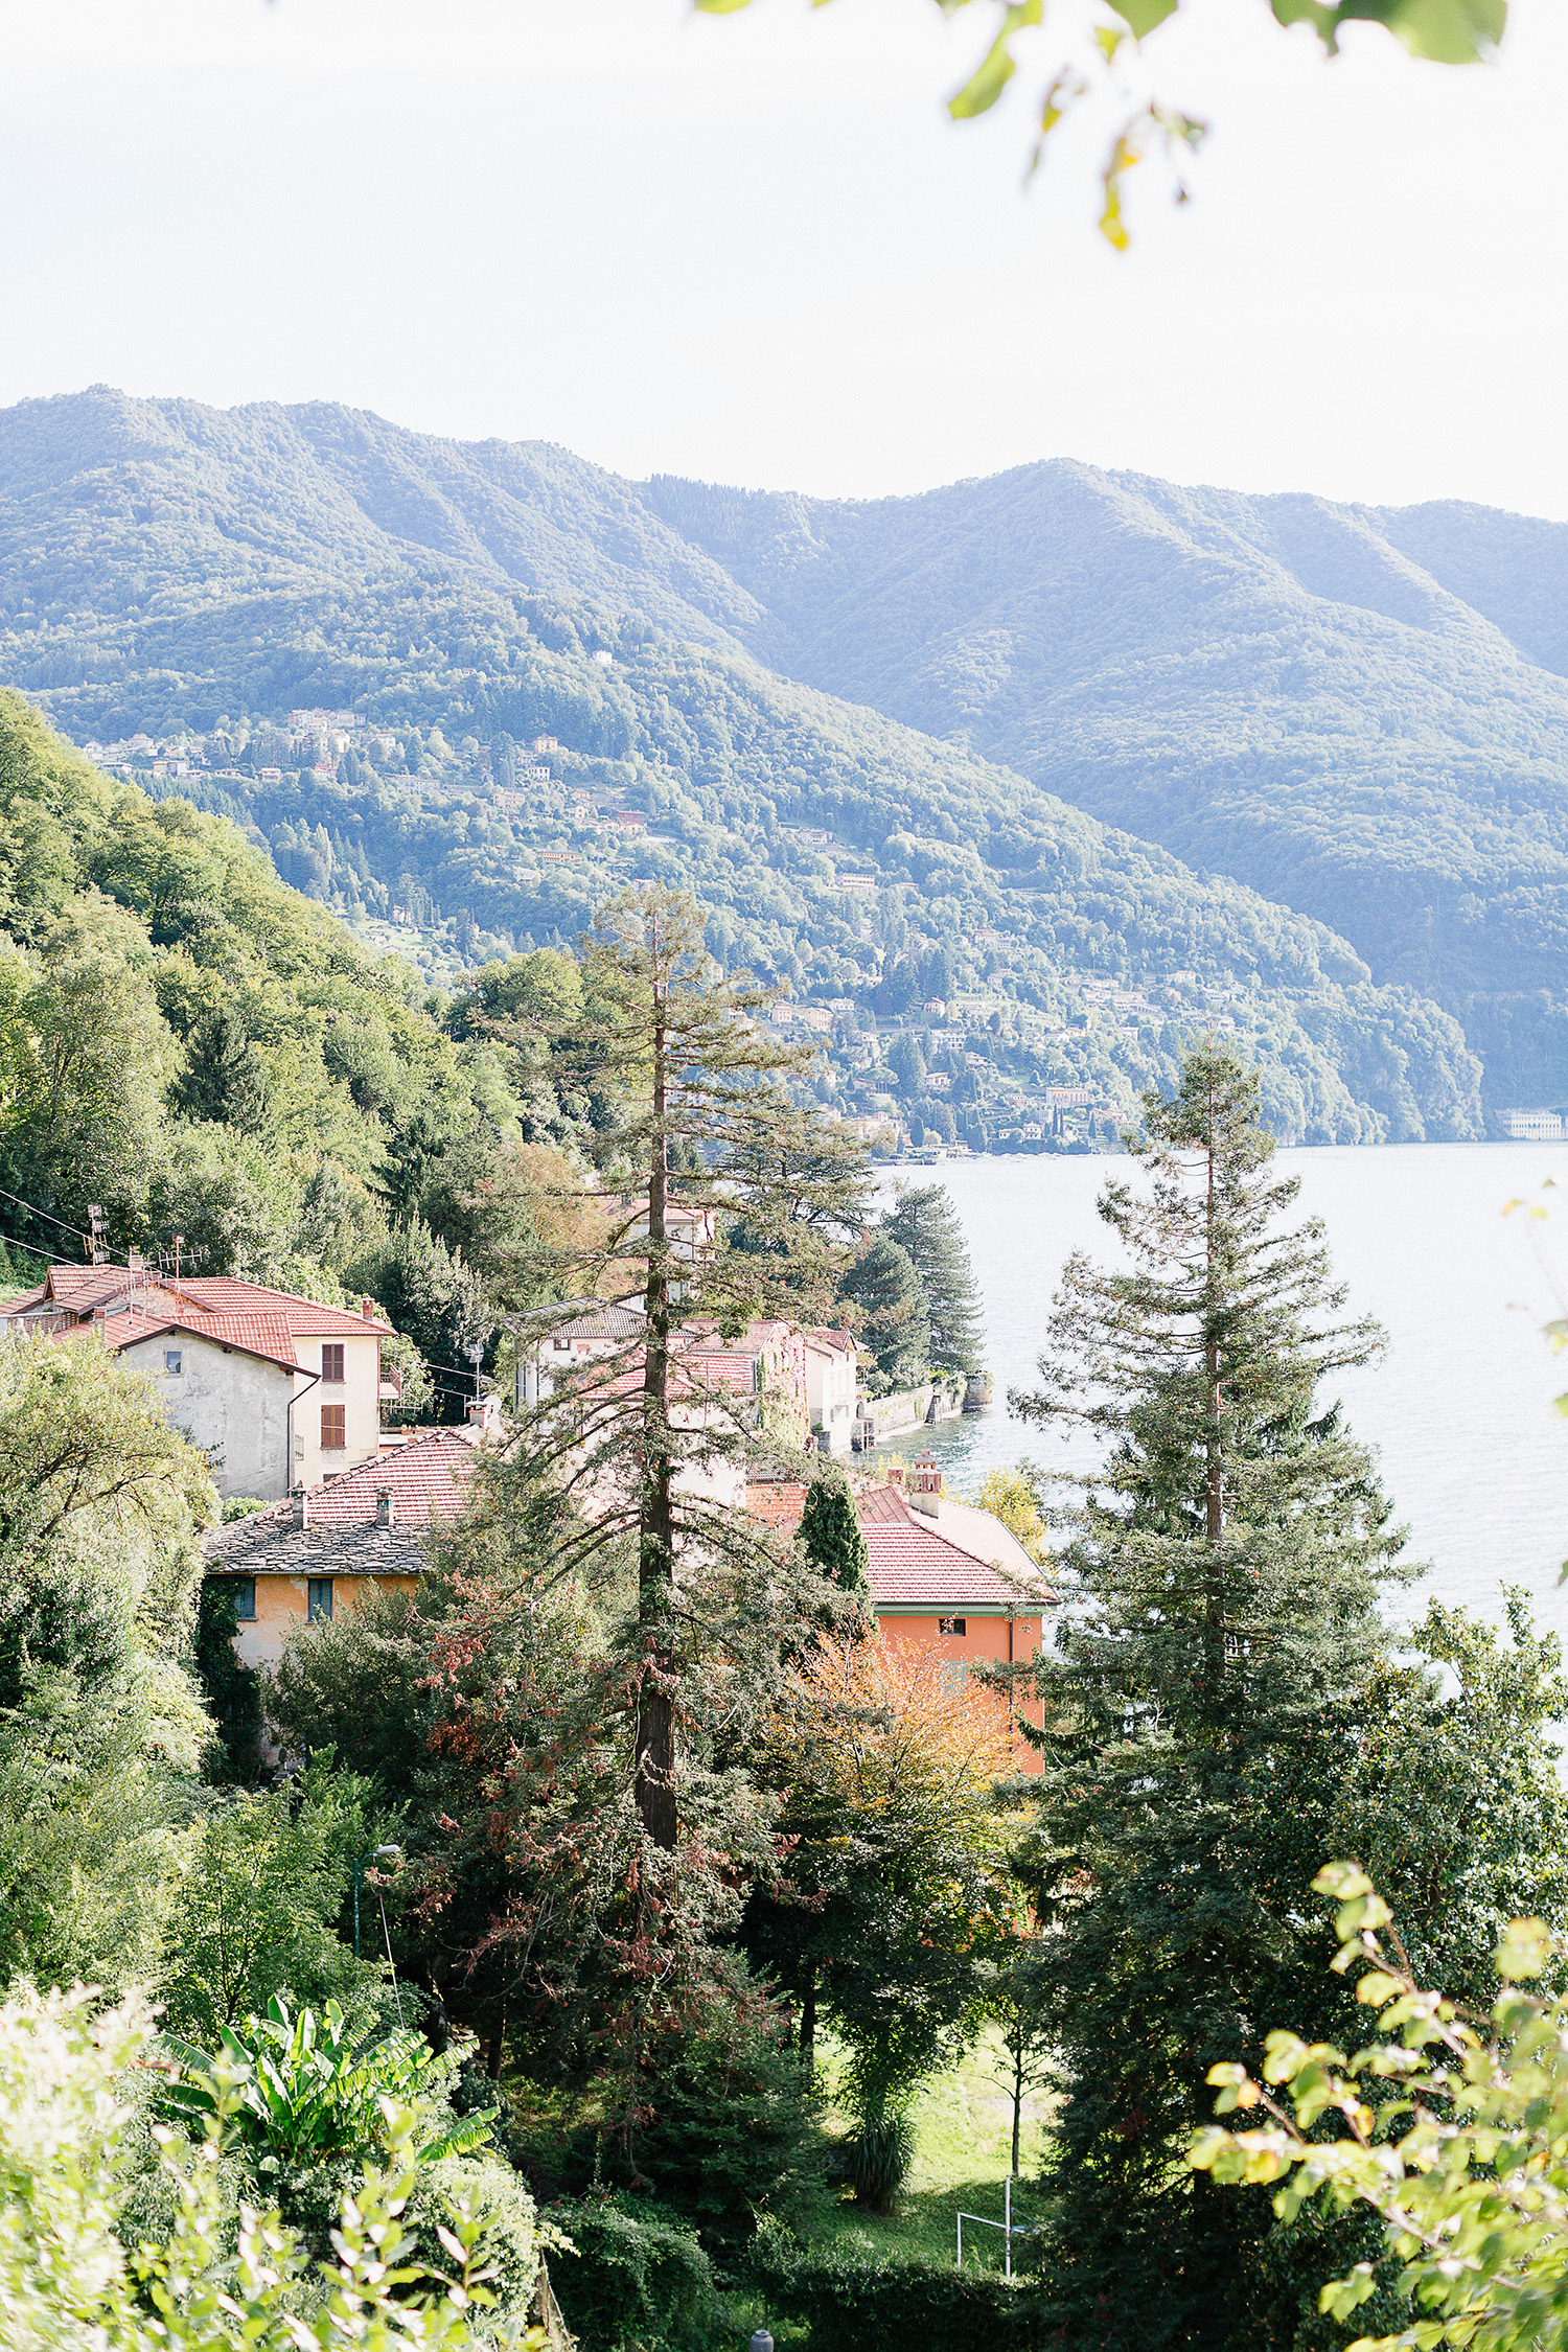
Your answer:
[[[752,1397],[710,1381],[701,1345],[752,1317],[830,1310],[844,1237],[863,1216],[865,1155],[795,1105],[788,1082],[809,1070],[809,1049],[762,1033],[762,990],[717,974],[686,894],[607,901],[581,971],[583,1011],[559,1056],[602,1105],[604,1185],[574,1202],[597,1211],[592,1235],[541,1244],[536,1272],[557,1296],[635,1303],[637,1319],[618,1355],[557,1383],[517,1465],[562,1573],[616,1545],[635,1552],[637,1813],[644,1837],[675,1853],[682,1724],[701,1752],[717,1677],[733,1693],[743,1661],[764,1679],[769,1656],[778,1665],[778,1628],[764,1623],[778,1609],[778,1562],[745,1512],[712,1498],[717,1465],[745,1458]],[[510,1035],[503,1021],[494,1030]],[[745,1249],[724,1247],[731,1228],[745,1228]],[[581,1496],[592,1508],[578,1510]]]

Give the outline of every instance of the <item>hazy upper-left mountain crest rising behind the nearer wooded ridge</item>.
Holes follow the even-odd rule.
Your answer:
[[[414,564],[635,607],[741,652],[752,597],[635,482],[550,442],[451,442],[331,402],[0,409],[0,612],[33,616],[21,684],[118,675],[103,628]],[[82,630],[89,621],[89,630]],[[42,675],[52,673],[52,675]]]

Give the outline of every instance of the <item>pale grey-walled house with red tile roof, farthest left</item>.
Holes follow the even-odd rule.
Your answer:
[[[374,1461],[381,1341],[367,1298],[329,1308],[233,1275],[52,1265],[7,1310],[9,1331],[99,1341],[143,1371],[169,1421],[212,1461],[219,1494],[263,1501]]]

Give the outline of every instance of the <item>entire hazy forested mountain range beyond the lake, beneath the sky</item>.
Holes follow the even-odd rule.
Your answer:
[[[78,741],[209,739],[207,767],[228,774],[179,788],[249,823],[350,920],[451,920],[465,953],[569,936],[628,870],[592,840],[571,854],[576,783],[665,835],[635,863],[701,889],[715,953],[802,995],[917,1016],[945,957],[938,993],[1027,1000],[1051,1025],[1023,1073],[1037,1105],[1048,1082],[1126,1105],[1218,997],[1269,1073],[1281,1134],[1474,1134],[1458,1023],[1486,1040],[1493,1101],[1556,1084],[1561,858],[1537,802],[1568,689],[1450,590],[1408,586],[1408,612],[1446,597],[1425,635],[1314,602],[1246,539],[1269,501],[1229,501],[1222,527],[1204,499],[1034,468],[825,506],[632,485],[552,447],[456,445],[327,405],[214,412],[96,388],[0,414],[0,675]],[[1505,602],[1486,543],[1453,564]],[[1516,595],[1533,644],[1556,626],[1549,579],[1537,548],[1535,590]],[[1352,682],[1361,623],[1385,635]],[[1382,753],[1396,783],[1354,769],[1368,708],[1396,708],[1375,680],[1396,652],[1408,687],[1418,637],[1450,668],[1467,649],[1479,734],[1512,680],[1535,764],[1526,779],[1493,757],[1507,823],[1472,811],[1462,830],[1425,736],[1425,800],[1403,739]],[[1293,701],[1286,670],[1321,673],[1321,691]],[[378,722],[376,760],[289,764],[266,729],[315,703]],[[505,762],[534,734],[557,739],[555,802],[538,790],[503,821],[491,750]],[[1324,743],[1345,750],[1333,783],[1312,769]],[[783,830],[802,823],[827,840]],[[1178,835],[1175,854],[1152,847]],[[1439,917],[1422,898],[1434,844],[1462,877]],[[1258,887],[1232,880],[1248,868]],[[1342,929],[1300,913],[1335,891]],[[1474,985],[1448,934],[1469,938]],[[1143,990],[1143,1009],[1110,1023],[1084,983]],[[966,1068],[954,1103],[985,1094]]]

